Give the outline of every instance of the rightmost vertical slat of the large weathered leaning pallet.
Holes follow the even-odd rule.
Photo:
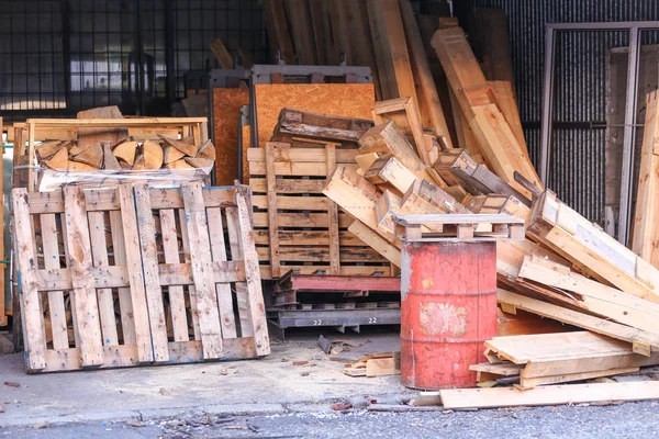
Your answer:
[[[248,195],[247,195],[248,196]],[[245,262],[245,277],[249,315],[254,330],[254,345],[257,356],[270,353],[268,325],[266,323],[266,305],[261,290],[258,258],[254,245],[249,202],[243,191],[236,190],[236,214],[238,240],[242,247],[242,257]]]

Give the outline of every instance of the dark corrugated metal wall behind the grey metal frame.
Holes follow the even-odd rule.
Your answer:
[[[545,24],[659,20],[657,0],[471,0],[506,11],[515,87],[530,157],[539,162]],[[657,43],[656,33],[644,44]],[[549,188],[592,221],[604,210],[606,53],[626,32],[565,33],[557,38],[555,132]],[[643,123],[643,121],[641,121]]]

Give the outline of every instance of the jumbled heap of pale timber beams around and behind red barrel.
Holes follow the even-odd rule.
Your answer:
[[[484,81],[459,27],[437,31],[433,46],[478,149],[447,148],[423,130],[418,133],[417,114],[401,99],[379,102],[376,125],[359,138],[355,164],[337,164],[323,193],[355,219],[368,235],[362,238],[367,244],[398,267],[403,235],[396,216],[487,213],[524,221],[524,240],[498,243],[500,306],[510,314],[523,311],[559,322],[566,331],[582,331],[538,330],[488,341],[482,361],[473,364],[483,385],[514,382],[532,389],[659,364],[659,270],[641,257],[651,251],[638,249],[638,256],[541,187],[523,138],[503,114],[504,105]],[[648,97],[652,100],[655,94]],[[648,111],[648,117],[655,117],[646,121],[652,126],[657,113]],[[654,145],[656,135],[647,134],[644,148]],[[654,181],[640,184],[649,199],[654,192],[647,184]],[[639,233],[651,235],[647,222],[638,223]],[[420,233],[455,232],[427,222]],[[652,246],[651,239],[643,243]]]

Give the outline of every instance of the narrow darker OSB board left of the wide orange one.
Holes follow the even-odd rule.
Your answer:
[[[231,185],[238,178],[238,116],[248,104],[248,89],[213,89],[216,185]]]

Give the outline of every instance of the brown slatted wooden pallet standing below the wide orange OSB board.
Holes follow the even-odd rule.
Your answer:
[[[301,274],[391,275],[391,266],[357,238],[353,218],[322,194],[336,165],[354,165],[356,149],[304,139],[249,148],[249,185],[261,277]],[[315,147],[314,147],[315,146]]]

